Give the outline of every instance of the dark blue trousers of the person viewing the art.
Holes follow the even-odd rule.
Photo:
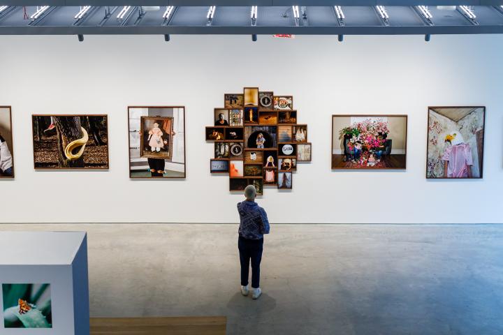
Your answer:
[[[251,287],[259,288],[263,239],[245,239],[244,237],[239,237],[238,248],[241,262],[241,285],[248,285],[249,265],[251,261]]]

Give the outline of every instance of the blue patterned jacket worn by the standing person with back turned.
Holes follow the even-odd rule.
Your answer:
[[[238,203],[240,214],[240,237],[245,239],[262,239],[263,234],[269,234],[269,221],[265,210],[256,202],[243,201]]]

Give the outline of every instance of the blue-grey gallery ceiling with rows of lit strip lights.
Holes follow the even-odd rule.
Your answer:
[[[466,0],[464,6],[451,0],[442,1],[444,6],[432,0],[385,0],[379,6],[376,0],[344,0],[337,6],[325,0],[296,1],[297,6],[284,0],[215,0],[212,6],[203,0],[136,1],[143,6],[117,0],[106,1],[110,6],[93,6],[105,2],[98,0],[86,6],[76,0],[47,0],[44,6],[32,0],[0,2],[0,35],[161,34],[168,40],[170,34],[323,34],[342,40],[344,35],[503,33],[503,0]]]

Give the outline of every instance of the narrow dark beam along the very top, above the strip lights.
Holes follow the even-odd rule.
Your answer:
[[[500,6],[503,0],[1,0],[6,6]]]

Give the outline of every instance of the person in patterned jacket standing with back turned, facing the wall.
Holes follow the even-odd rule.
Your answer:
[[[241,294],[249,294],[248,275],[251,261],[252,298],[261,296],[260,264],[263,251],[263,235],[269,234],[270,227],[265,210],[255,202],[256,188],[248,185],[245,188],[246,200],[238,203],[240,227],[238,230],[238,248],[241,263]]]

